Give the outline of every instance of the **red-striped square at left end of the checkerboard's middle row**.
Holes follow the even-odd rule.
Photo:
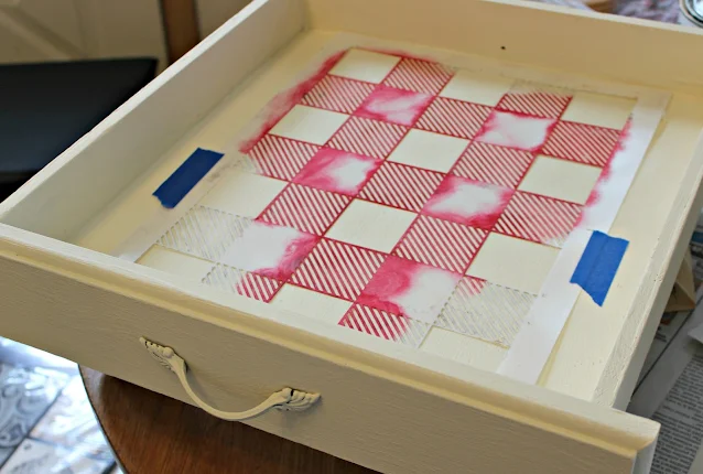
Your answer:
[[[292,180],[317,150],[315,144],[267,134],[251,149],[249,158],[257,173]]]

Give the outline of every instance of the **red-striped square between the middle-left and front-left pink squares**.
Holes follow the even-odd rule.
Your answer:
[[[291,184],[259,218],[267,223],[323,235],[349,201],[350,197],[342,194]]]

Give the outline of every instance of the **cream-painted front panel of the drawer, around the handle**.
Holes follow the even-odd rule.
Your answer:
[[[48,251],[47,238],[6,225],[0,243],[12,314],[3,335],[187,401],[140,346],[147,336],[173,346],[192,384],[223,409],[248,408],[282,386],[318,392],[313,410],[248,423],[368,467],[629,473],[658,432],[652,421],[482,370],[442,363],[467,384],[420,368],[426,362],[410,355],[415,364],[335,344],[247,314],[261,303],[206,289],[221,300],[208,302],[156,271],[134,272],[67,244]],[[241,312],[228,308],[232,299]]]

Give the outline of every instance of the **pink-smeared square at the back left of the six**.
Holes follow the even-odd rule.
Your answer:
[[[431,101],[429,94],[381,85],[366,98],[355,115],[412,127]]]

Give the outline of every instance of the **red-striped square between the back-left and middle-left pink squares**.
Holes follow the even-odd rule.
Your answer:
[[[329,139],[327,146],[366,157],[385,159],[403,138],[405,127],[352,117]]]

